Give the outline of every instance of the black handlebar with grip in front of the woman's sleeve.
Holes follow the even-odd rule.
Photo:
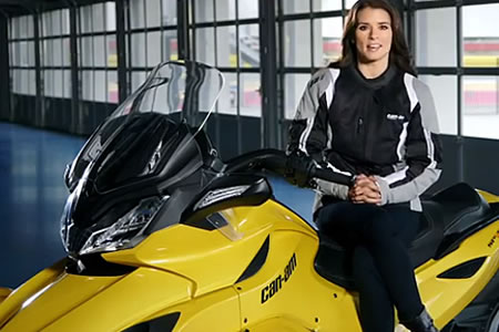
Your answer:
[[[338,174],[328,168],[319,168],[312,158],[287,156],[279,149],[259,149],[235,157],[226,163],[227,173],[245,169],[267,169],[283,176],[294,185],[306,186],[312,178],[350,186],[353,176]]]

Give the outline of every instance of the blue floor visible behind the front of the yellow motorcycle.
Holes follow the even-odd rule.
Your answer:
[[[80,137],[0,123],[0,286],[14,288],[64,256],[62,175]],[[272,178],[275,197],[307,220],[314,193]]]

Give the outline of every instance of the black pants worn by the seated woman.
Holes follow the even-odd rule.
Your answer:
[[[338,201],[317,212],[322,232],[352,250],[364,332],[393,332],[394,305],[400,320],[424,309],[407,248],[419,227],[408,205]]]

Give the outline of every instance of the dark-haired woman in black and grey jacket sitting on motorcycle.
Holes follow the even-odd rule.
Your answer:
[[[421,195],[440,175],[437,116],[416,79],[397,11],[386,0],[350,10],[343,54],[308,82],[289,129],[288,153],[355,175],[352,187],[316,180],[317,225],[353,251],[366,332],[435,332],[407,246],[419,227]]]

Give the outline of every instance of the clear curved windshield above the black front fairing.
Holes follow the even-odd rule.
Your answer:
[[[85,168],[96,160],[106,145],[130,126],[140,114],[167,115],[170,123],[187,123],[203,129],[224,85],[224,77],[216,69],[195,62],[165,62],[159,64],[146,81],[130,95],[92,135],[77,156],[65,175],[70,190],[81,179]],[[162,116],[165,118],[165,116]],[[139,126],[140,127],[140,126]],[[153,135],[154,127],[145,134]],[[130,142],[141,137],[130,137]],[[104,160],[105,162],[105,160]],[[105,164],[105,163],[104,163]],[[102,165],[100,166],[102,167]]]

